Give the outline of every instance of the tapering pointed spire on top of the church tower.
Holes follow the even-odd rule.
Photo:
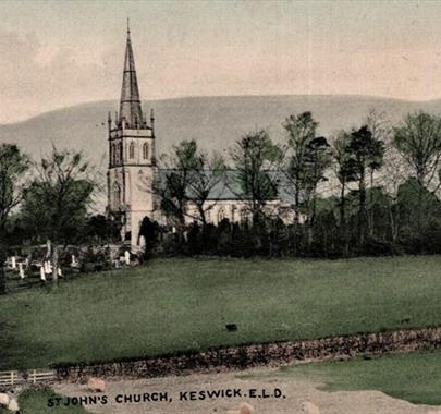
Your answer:
[[[125,47],[124,73],[120,101],[120,122],[123,121],[128,123],[132,129],[140,127],[143,124],[143,111],[140,108],[138,82],[136,80],[128,19],[127,45]]]

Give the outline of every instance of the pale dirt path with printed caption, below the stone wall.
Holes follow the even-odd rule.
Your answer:
[[[107,405],[88,405],[87,410],[100,414],[236,414],[241,403],[247,402],[255,414],[309,413],[309,414],[441,414],[441,407],[414,405],[395,400],[378,391],[327,392],[317,388],[320,383],[295,377],[277,377],[277,369],[248,369],[242,373],[199,374],[186,377],[168,377],[140,380],[114,380],[106,383]],[[273,376],[272,376],[273,374]],[[243,377],[245,378],[238,378]],[[180,401],[180,392],[189,398],[188,391],[241,389],[242,397],[210,399],[204,401]],[[280,389],[285,398],[250,399],[250,389],[257,394],[266,389],[274,394]],[[56,391],[70,397],[91,395],[85,386],[60,383]],[[144,394],[167,392],[171,402],[115,403],[119,394]],[[245,397],[246,394],[247,397]]]

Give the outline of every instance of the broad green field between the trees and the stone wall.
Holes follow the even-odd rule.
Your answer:
[[[1,296],[0,369],[432,326],[440,292],[441,256],[155,260]]]

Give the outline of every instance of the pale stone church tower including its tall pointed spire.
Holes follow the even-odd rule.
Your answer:
[[[112,120],[109,112],[108,212],[121,220],[122,240],[139,247],[139,227],[144,217],[154,218],[151,186],[156,175],[155,118],[149,124],[139,98],[127,26],[120,111]]]

